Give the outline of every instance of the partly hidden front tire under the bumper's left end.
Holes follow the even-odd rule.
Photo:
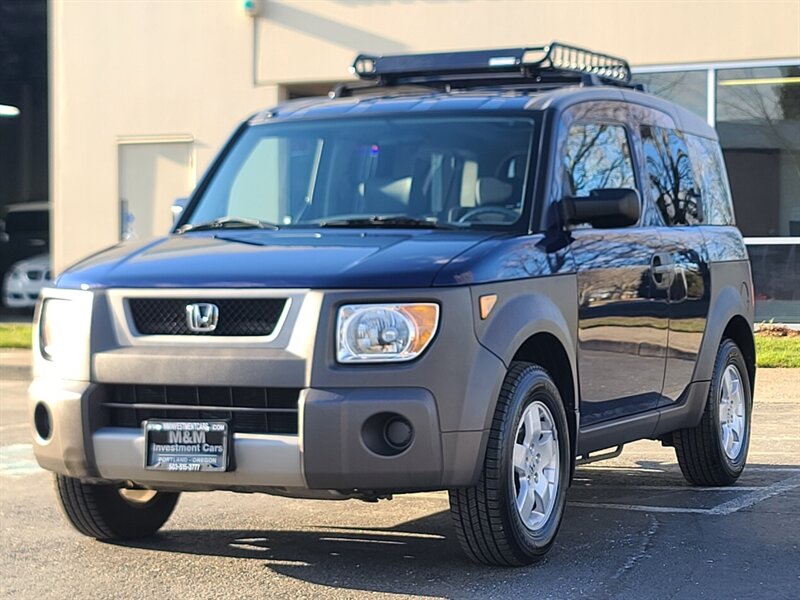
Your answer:
[[[55,476],[56,494],[67,521],[80,533],[102,541],[149,537],[172,514],[177,492],[136,492],[111,484],[83,483],[74,477]],[[127,495],[127,498],[126,498]]]

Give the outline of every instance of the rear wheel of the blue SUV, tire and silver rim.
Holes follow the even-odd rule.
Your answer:
[[[689,483],[731,485],[742,474],[750,445],[753,407],[747,373],[739,347],[733,340],[723,340],[700,423],[673,434],[678,464]]]

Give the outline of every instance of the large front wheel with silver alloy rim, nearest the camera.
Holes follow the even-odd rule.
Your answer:
[[[533,425],[529,434],[524,420],[528,416],[531,423],[538,417],[538,432]],[[564,514],[569,448],[564,404],[550,375],[530,363],[512,363],[497,400],[478,484],[449,493],[458,540],[470,559],[487,565],[520,566],[544,557]],[[550,490],[549,499],[540,495],[534,501],[520,494],[528,480],[533,486],[528,489],[543,485],[541,489]],[[533,502],[532,507],[522,502],[518,510],[518,497]]]

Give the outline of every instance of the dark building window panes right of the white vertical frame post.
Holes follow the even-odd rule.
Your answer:
[[[720,69],[716,92],[736,220],[751,238],[756,320],[798,323],[800,247],[780,238],[800,236],[800,65]]]

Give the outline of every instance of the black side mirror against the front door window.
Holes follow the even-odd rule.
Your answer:
[[[635,225],[641,213],[639,194],[629,188],[592,190],[580,198],[566,196],[560,204],[564,222],[589,223],[601,229]]]

